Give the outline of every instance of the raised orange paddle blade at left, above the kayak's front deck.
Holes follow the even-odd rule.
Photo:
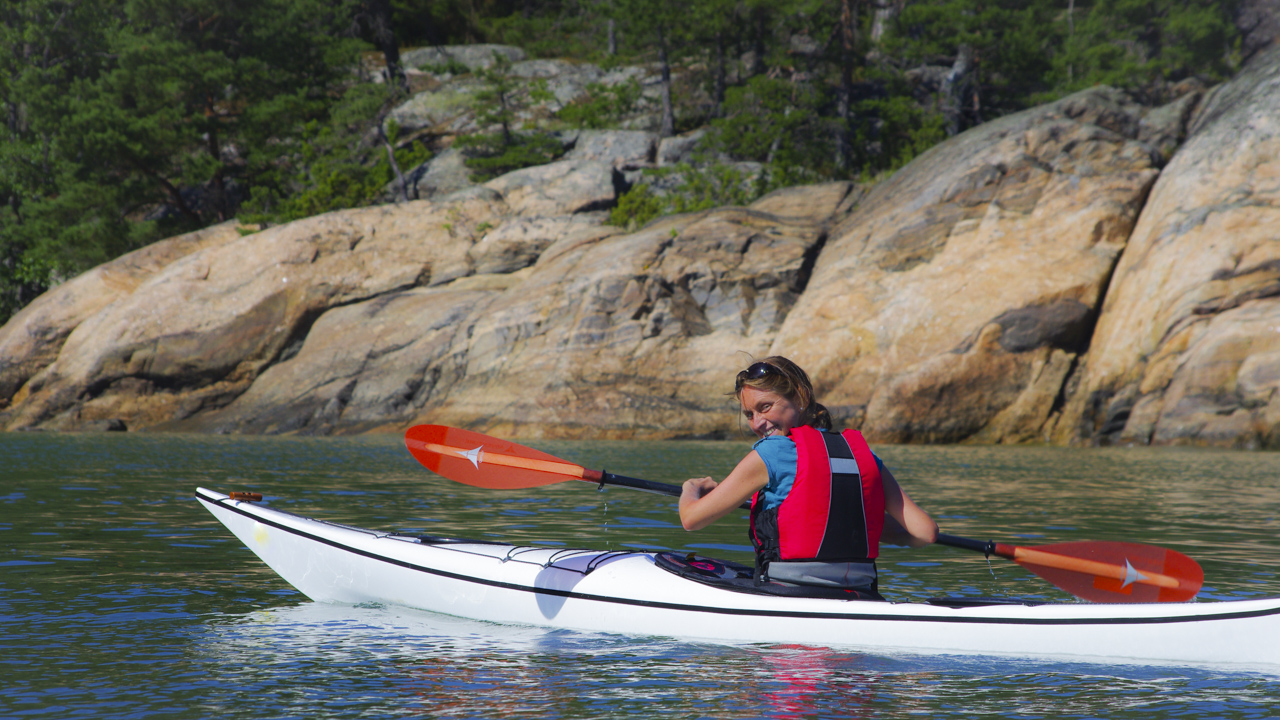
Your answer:
[[[490,489],[517,489],[582,479],[589,470],[531,447],[444,425],[415,425],[404,446],[428,470]]]

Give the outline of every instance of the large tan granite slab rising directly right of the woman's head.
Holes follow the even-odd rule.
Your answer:
[[[771,346],[881,442],[1042,437],[1158,158],[1085,91],[925,152],[841,222]]]

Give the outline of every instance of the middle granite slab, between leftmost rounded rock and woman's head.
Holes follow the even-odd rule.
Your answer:
[[[495,273],[330,310],[228,407],[172,427],[723,434],[726,370],[709,360],[767,346],[804,284],[820,220],[850,191],[791,191],[634,234],[593,217],[512,218],[471,247],[476,269]],[[521,245],[544,247],[536,263],[504,260]]]

